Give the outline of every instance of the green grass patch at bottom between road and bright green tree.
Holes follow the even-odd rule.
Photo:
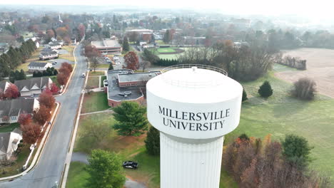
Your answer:
[[[82,162],[71,162],[69,168],[69,176],[67,177],[66,187],[81,188],[86,187],[87,178],[89,177],[86,172],[86,164]]]

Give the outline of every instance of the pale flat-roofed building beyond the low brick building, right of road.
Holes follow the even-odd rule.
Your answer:
[[[118,41],[112,39],[103,39],[102,41],[91,41],[91,45],[95,46],[96,49],[101,51],[101,53],[111,53],[118,54],[122,53],[122,47]]]

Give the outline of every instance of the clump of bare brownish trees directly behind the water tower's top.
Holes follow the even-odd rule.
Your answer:
[[[236,80],[255,80],[273,66],[274,53],[263,43],[240,47],[232,41],[214,43],[209,47],[189,48],[178,57],[181,64],[204,64],[223,68]]]

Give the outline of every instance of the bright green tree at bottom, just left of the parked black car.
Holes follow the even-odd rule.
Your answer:
[[[86,170],[89,174],[86,187],[118,188],[126,181],[121,158],[114,152],[93,150],[88,157]]]

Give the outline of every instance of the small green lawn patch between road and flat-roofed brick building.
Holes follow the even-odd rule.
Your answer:
[[[108,106],[107,94],[104,92],[91,92],[85,94],[81,113],[92,113],[96,111],[106,110]]]

